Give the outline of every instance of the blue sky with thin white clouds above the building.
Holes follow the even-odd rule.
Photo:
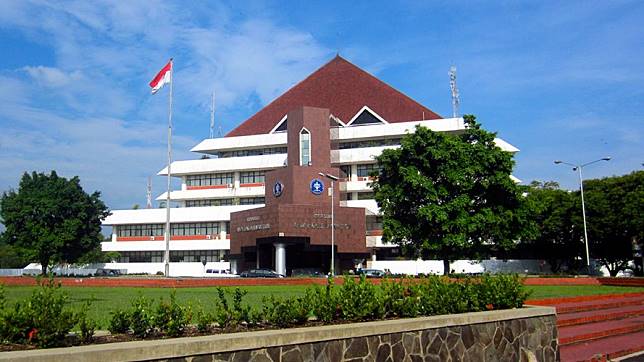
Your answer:
[[[175,58],[175,159],[224,133],[337,52],[443,116],[450,65],[462,113],[521,149],[515,175],[575,188],[554,159],[642,169],[644,2],[0,2],[0,191],[25,171],[80,176],[113,208],[145,204],[165,165]],[[164,188],[153,178],[154,193]]]

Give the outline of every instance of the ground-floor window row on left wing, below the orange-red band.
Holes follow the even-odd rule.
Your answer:
[[[119,263],[162,263],[163,251],[122,251]],[[176,250],[170,251],[170,262],[207,262],[228,260],[228,250]]]

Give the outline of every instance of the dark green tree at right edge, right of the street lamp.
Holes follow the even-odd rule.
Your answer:
[[[611,276],[644,240],[644,171],[584,182],[590,253]]]

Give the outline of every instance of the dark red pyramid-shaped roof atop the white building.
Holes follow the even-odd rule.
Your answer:
[[[328,108],[342,122],[368,106],[387,122],[442,118],[339,55],[277,97],[226,137],[269,133],[299,106]]]

